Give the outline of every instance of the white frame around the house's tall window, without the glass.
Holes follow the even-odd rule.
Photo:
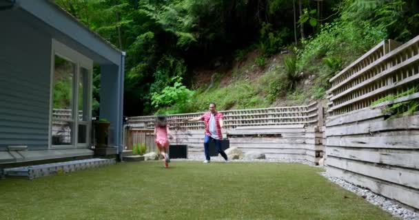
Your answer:
[[[55,56],[60,56],[65,60],[68,60],[76,65],[76,72],[74,73],[73,81],[73,107],[72,112],[74,115],[74,129],[72,130],[72,145],[52,145],[52,107],[54,102],[54,71],[55,71]],[[79,122],[79,79],[80,79],[80,68],[83,67],[88,69],[88,119],[92,118],[92,69],[93,61],[92,59],[72,50],[70,47],[64,45],[63,43],[52,39],[51,45],[51,69],[50,69],[50,122],[49,122],[49,131],[48,131],[48,148],[49,149],[59,149],[59,148],[88,148],[90,147],[90,131],[92,129],[92,121],[88,122]],[[86,143],[79,144],[79,124],[87,124],[87,134],[86,134]]]

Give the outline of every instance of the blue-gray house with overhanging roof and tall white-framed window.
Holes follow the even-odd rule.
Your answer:
[[[121,152],[125,52],[53,1],[0,0],[0,27],[0,170],[92,157],[94,64],[108,145]]]

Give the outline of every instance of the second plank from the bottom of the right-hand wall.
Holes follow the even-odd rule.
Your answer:
[[[353,173],[419,189],[419,170],[379,166],[351,159],[333,157],[331,155],[327,155],[327,166],[334,166],[343,170],[349,170]]]

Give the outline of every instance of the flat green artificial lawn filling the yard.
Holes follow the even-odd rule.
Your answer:
[[[0,219],[392,219],[303,164],[126,162],[0,180]]]

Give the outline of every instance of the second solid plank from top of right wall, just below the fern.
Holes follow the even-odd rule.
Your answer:
[[[359,124],[349,124],[329,127],[326,136],[354,135],[362,133],[373,133],[376,131],[408,130],[419,129],[419,115],[411,115],[391,120],[374,122],[360,122]]]

